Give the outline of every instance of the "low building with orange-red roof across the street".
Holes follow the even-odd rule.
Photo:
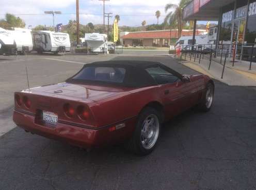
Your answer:
[[[196,30],[196,35],[205,34],[206,30]],[[182,35],[193,35],[193,30],[182,30]],[[169,47],[178,40],[178,30],[154,30],[139,32],[121,32],[120,41],[124,46]]]

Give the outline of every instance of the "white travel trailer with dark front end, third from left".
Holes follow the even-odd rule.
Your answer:
[[[32,31],[34,50],[42,52],[70,51],[69,34],[52,31]]]

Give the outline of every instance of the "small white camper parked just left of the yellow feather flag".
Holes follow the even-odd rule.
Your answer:
[[[85,34],[85,42],[92,52],[107,53],[107,35],[100,33]]]

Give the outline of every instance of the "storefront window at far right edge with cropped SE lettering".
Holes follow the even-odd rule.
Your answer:
[[[251,0],[249,4],[248,23],[245,34],[245,42],[256,43],[256,1]]]

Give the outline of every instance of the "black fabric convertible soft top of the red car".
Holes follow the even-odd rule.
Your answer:
[[[74,79],[77,74],[82,72],[86,67],[118,67],[125,69],[125,77],[122,83],[112,83],[105,81],[89,81],[89,80],[77,80]],[[182,78],[182,75],[169,67],[158,63],[158,62],[148,62],[148,61],[129,61],[129,60],[112,60],[104,62],[94,62],[84,65],[84,67],[76,73],[73,77],[66,80],[68,83],[85,83],[93,85],[117,85],[123,87],[146,87],[157,85],[155,80],[151,75],[145,70],[150,67],[161,67],[173,75]]]

